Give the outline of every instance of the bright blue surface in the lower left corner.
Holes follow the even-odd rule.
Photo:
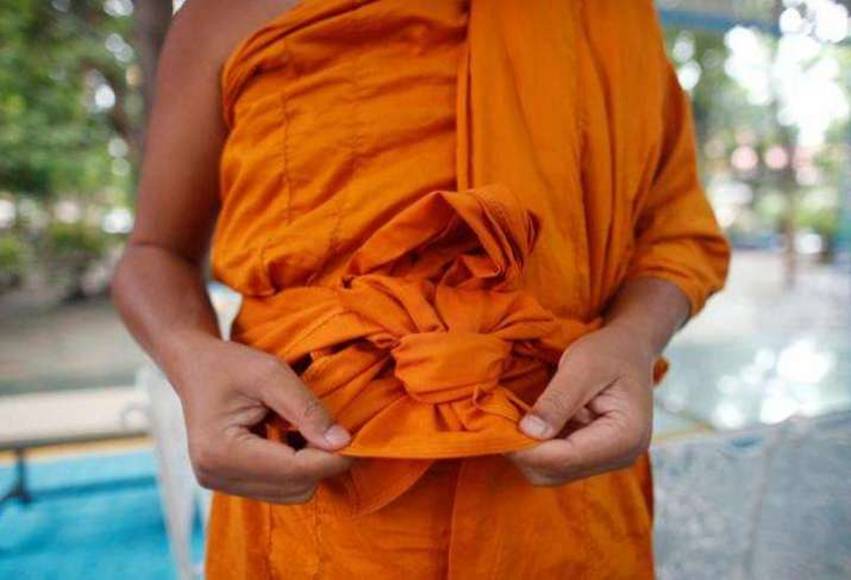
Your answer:
[[[30,462],[34,500],[0,508],[0,579],[174,578],[155,472],[149,450]],[[0,489],[12,480],[0,467]]]

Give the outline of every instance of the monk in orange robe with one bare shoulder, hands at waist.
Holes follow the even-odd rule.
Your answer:
[[[730,249],[651,0],[188,0],[156,88],[113,291],[208,578],[653,577],[653,387]]]

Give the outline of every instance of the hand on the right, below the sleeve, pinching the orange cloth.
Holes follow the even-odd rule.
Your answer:
[[[536,486],[631,465],[653,431],[653,349],[630,329],[604,326],[574,342],[520,422],[542,443],[507,457]]]

